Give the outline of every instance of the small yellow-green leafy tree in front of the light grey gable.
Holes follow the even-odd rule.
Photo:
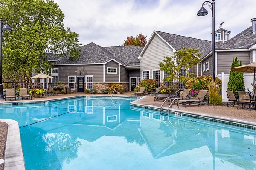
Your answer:
[[[163,62],[160,62],[161,71],[165,71],[169,76],[164,81],[172,81],[176,79],[180,83],[185,83],[190,77],[195,77],[195,73],[189,72],[189,69],[198,64],[201,59],[199,58],[202,53],[198,53],[199,49],[182,48],[174,53],[171,57],[164,57]]]

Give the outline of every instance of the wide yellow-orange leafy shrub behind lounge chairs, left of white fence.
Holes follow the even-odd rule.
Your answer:
[[[186,82],[186,87],[191,90],[209,90],[209,83],[212,82],[212,76],[198,76],[191,78]],[[215,84],[221,87],[221,79],[215,77]]]

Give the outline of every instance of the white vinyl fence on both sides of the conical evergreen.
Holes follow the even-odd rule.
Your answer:
[[[221,87],[221,95],[223,102],[227,102],[227,83],[229,79],[229,74],[225,74],[222,72],[221,74],[217,74],[216,77],[221,79],[222,87]],[[248,88],[250,91],[252,91],[252,83],[253,83],[253,73],[244,73],[244,86],[245,91],[248,91]]]

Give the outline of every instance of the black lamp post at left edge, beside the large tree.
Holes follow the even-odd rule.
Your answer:
[[[6,25],[3,27],[3,22],[6,22]],[[3,66],[3,54],[2,54],[2,42],[3,42],[3,30],[5,31],[12,31],[12,28],[8,25],[6,20],[0,18],[0,99],[3,98],[3,79],[2,79],[2,66]]]

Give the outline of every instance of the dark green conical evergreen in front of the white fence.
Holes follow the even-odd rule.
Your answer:
[[[242,65],[242,60],[240,60],[240,64],[239,64],[237,56],[233,58],[231,68],[241,66],[241,65]],[[238,91],[245,91],[243,72],[230,70],[230,77],[227,83],[227,90],[233,91],[235,95],[237,95]]]

